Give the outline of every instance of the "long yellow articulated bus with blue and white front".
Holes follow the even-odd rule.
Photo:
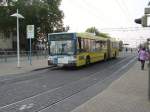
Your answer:
[[[79,67],[119,54],[118,41],[90,33],[51,33],[48,43],[48,65]]]

